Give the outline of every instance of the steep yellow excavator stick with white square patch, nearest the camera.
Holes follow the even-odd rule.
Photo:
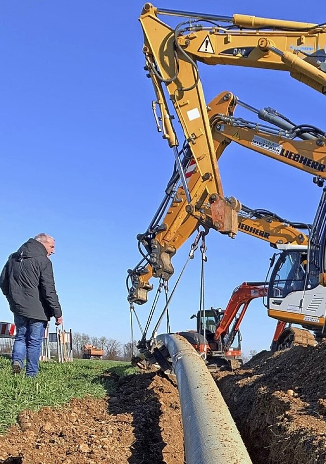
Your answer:
[[[173,149],[187,203],[194,206],[198,200],[216,202],[218,215],[222,219],[220,230],[233,237],[236,234],[236,211],[223,196],[201,83],[196,77],[193,64],[187,59],[178,58],[177,62],[167,60],[165,46],[169,49],[172,47],[173,57],[175,56],[173,31],[169,26],[159,21],[155,15],[153,16],[146,11],[146,5],[140,22],[144,32],[145,68],[151,77],[156,95],[156,101],[152,103],[152,107],[157,128],[162,131],[163,137],[167,139],[169,146]],[[149,10],[152,11],[152,7]],[[184,76],[182,83],[177,77],[180,70]],[[196,85],[194,85],[194,79]],[[180,153],[177,148],[179,142],[172,124],[174,115],[170,113],[165,92],[167,92],[181,124],[184,138],[188,144],[187,149],[197,165],[200,176],[199,195],[196,186],[193,187],[191,195],[185,181]],[[160,111],[159,117],[156,116],[156,106]],[[161,127],[159,122],[161,122]]]

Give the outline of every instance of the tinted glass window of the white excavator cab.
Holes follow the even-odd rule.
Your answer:
[[[269,281],[269,297],[285,298],[291,292],[314,288],[317,281],[307,276],[307,252],[283,252],[276,261]]]

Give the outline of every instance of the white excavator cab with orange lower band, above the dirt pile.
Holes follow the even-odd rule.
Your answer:
[[[325,321],[326,290],[309,274],[306,245],[277,245],[268,284],[267,313],[275,319],[300,324],[315,332]]]

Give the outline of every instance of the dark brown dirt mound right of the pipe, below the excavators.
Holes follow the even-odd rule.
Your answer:
[[[326,342],[214,374],[255,464],[325,464]]]

